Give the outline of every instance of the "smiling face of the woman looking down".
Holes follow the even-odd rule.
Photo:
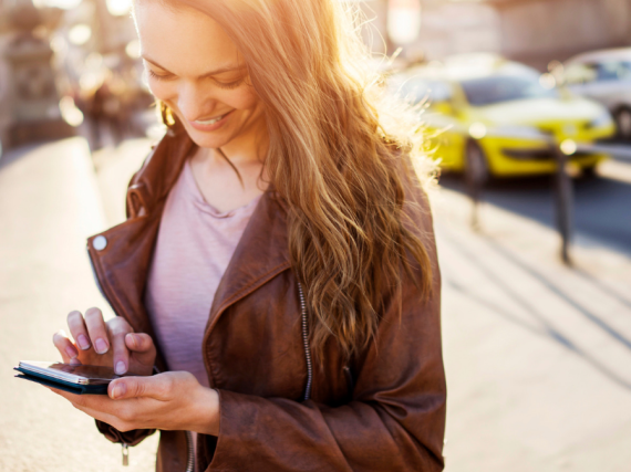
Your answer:
[[[135,20],[152,93],[200,147],[218,148],[265,128],[244,59],[211,18],[138,0]]]

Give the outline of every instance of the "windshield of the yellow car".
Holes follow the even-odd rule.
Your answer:
[[[555,88],[544,87],[537,76],[494,75],[463,81],[461,84],[473,106],[558,96]]]

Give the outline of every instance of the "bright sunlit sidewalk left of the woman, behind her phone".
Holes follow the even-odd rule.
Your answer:
[[[157,436],[121,465],[94,421],[68,401],[13,378],[19,360],[55,360],[52,335],[72,310],[106,308],[85,238],[106,227],[87,145],[30,146],[0,160],[0,471],[149,472]],[[105,310],[111,315],[111,312]]]

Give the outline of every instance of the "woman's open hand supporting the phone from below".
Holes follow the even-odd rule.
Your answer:
[[[219,395],[200,386],[190,373],[120,378],[110,384],[107,396],[51,390],[118,431],[162,429],[219,433]]]

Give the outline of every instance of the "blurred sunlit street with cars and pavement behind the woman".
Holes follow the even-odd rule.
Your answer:
[[[446,470],[628,471],[631,0],[353,3],[441,168]],[[84,244],[164,133],[138,56],[128,0],[0,0],[2,471],[125,470],[10,369],[55,359],[68,312],[113,315]]]

